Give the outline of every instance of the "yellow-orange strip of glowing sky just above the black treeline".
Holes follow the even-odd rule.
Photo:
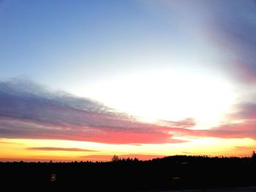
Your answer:
[[[253,139],[219,139],[175,137],[188,142],[176,144],[108,145],[96,142],[75,142],[45,139],[1,139],[0,161],[110,161],[116,155],[238,155],[247,156],[255,147]],[[94,151],[28,150],[28,147],[75,147]],[[225,147],[223,147],[225,146]],[[238,146],[241,146],[239,148]],[[102,150],[104,149],[104,150]],[[138,156],[138,154],[140,154]]]

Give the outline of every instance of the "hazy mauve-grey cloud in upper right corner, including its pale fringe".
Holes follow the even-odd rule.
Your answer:
[[[165,15],[173,30],[179,32],[176,39],[187,39],[183,50],[192,46],[200,57],[206,53],[211,68],[225,71],[237,82],[256,82],[255,0],[143,2]],[[181,44],[182,39],[178,42]]]

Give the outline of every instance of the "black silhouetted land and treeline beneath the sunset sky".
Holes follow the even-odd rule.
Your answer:
[[[251,158],[175,155],[139,161],[0,163],[1,185],[11,188],[72,191],[165,191],[256,185],[256,155]]]

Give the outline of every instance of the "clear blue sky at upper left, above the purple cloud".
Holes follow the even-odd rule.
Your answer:
[[[137,1],[2,1],[0,14],[1,77],[61,88],[137,68],[122,60],[166,35]]]

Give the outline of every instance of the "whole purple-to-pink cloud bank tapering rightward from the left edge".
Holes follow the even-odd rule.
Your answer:
[[[185,120],[177,125],[178,128],[191,123]],[[97,101],[50,91],[34,82],[0,82],[2,138],[115,144],[186,142],[173,139],[170,129],[170,126],[141,123],[135,117],[116,112]]]

